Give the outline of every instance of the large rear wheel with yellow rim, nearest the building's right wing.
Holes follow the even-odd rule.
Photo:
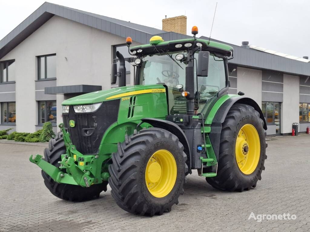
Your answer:
[[[206,178],[210,185],[228,191],[256,187],[267,158],[263,125],[252,106],[231,107],[222,124],[217,176]]]

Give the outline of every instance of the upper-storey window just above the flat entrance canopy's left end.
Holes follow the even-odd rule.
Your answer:
[[[56,78],[56,54],[38,56],[38,80]]]

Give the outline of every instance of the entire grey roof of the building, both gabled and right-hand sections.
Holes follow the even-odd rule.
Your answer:
[[[124,38],[130,36],[133,41],[142,44],[149,43],[149,39],[154,35],[161,36],[165,41],[192,38],[191,36],[175,32],[166,32],[156,28],[126,22],[120,19],[96,15],[86,11],[80,11],[65,6],[44,2],[36,11],[34,11],[28,18],[26,18],[0,41],[0,59],[54,15],[58,15],[60,17],[70,19]],[[200,38],[209,39],[204,36]],[[214,39],[211,40],[217,41]],[[310,63],[300,62],[222,41],[217,42],[231,45],[234,48],[235,58],[230,60],[230,63],[238,64],[239,66],[244,67],[277,70],[293,75],[310,75]]]

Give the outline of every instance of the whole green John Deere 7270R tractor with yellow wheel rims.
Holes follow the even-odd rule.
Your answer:
[[[153,216],[178,204],[194,169],[219,190],[256,186],[267,158],[262,111],[242,92],[228,94],[232,47],[196,38],[197,27],[192,33],[135,47],[128,37],[131,57],[117,52],[111,69],[119,87],[62,103],[61,132],[44,158],[29,159],[53,195],[86,201],[109,184],[122,209]],[[133,86],[125,62],[134,66]]]

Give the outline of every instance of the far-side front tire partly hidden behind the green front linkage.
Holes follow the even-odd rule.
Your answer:
[[[62,132],[56,134],[55,139],[51,139],[49,148],[44,149],[44,160],[50,164],[59,167],[58,161],[61,161],[61,155],[66,153]],[[48,190],[56,197],[69,201],[86,201],[98,198],[100,192],[107,191],[108,182],[102,184],[93,184],[91,187],[82,187],[79,185],[62,184],[55,182],[49,175],[42,170],[44,184]]]

